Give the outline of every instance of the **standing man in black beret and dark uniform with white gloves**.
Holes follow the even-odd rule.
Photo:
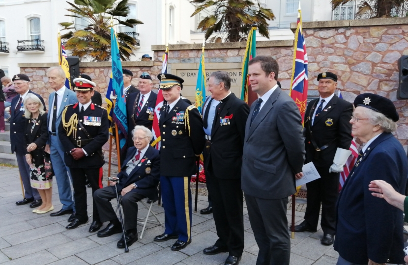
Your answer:
[[[321,243],[331,245],[336,234],[335,206],[339,194],[339,172],[343,171],[350,156],[348,150],[352,140],[350,117],[353,106],[334,93],[337,87],[335,74],[321,73],[318,81],[320,98],[312,100],[305,112],[305,162],[313,162],[321,178],[306,184],[305,220],[295,226],[295,232],[316,231],[321,205]]]

